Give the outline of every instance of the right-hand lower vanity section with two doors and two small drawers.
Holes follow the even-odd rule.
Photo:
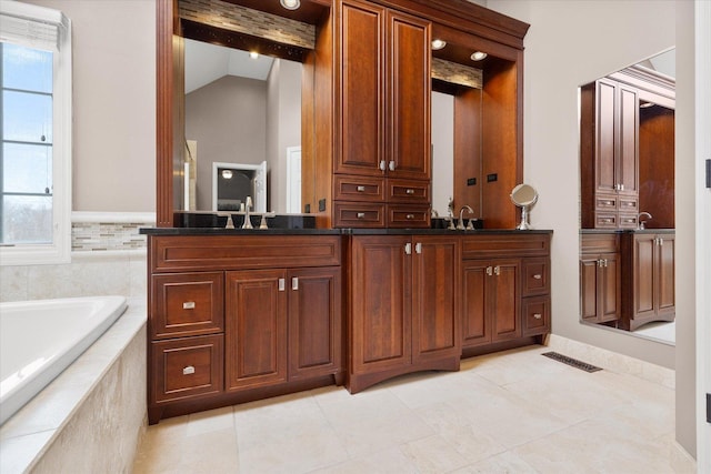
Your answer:
[[[550,332],[550,234],[462,238],[464,355]]]

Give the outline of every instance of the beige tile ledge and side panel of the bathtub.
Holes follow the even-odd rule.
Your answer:
[[[130,300],[102,337],[0,427],[0,472],[130,471],[147,423],[146,319],[146,300]]]

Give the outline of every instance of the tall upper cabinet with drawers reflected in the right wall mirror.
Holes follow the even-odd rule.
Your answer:
[[[637,89],[610,79],[581,88],[583,229],[634,229],[639,212]]]

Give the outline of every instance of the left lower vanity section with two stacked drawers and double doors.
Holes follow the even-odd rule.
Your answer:
[[[149,422],[342,383],[340,235],[149,235]]]

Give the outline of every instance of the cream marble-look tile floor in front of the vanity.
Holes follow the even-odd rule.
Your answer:
[[[161,421],[134,473],[692,473],[674,392],[530,346]]]

